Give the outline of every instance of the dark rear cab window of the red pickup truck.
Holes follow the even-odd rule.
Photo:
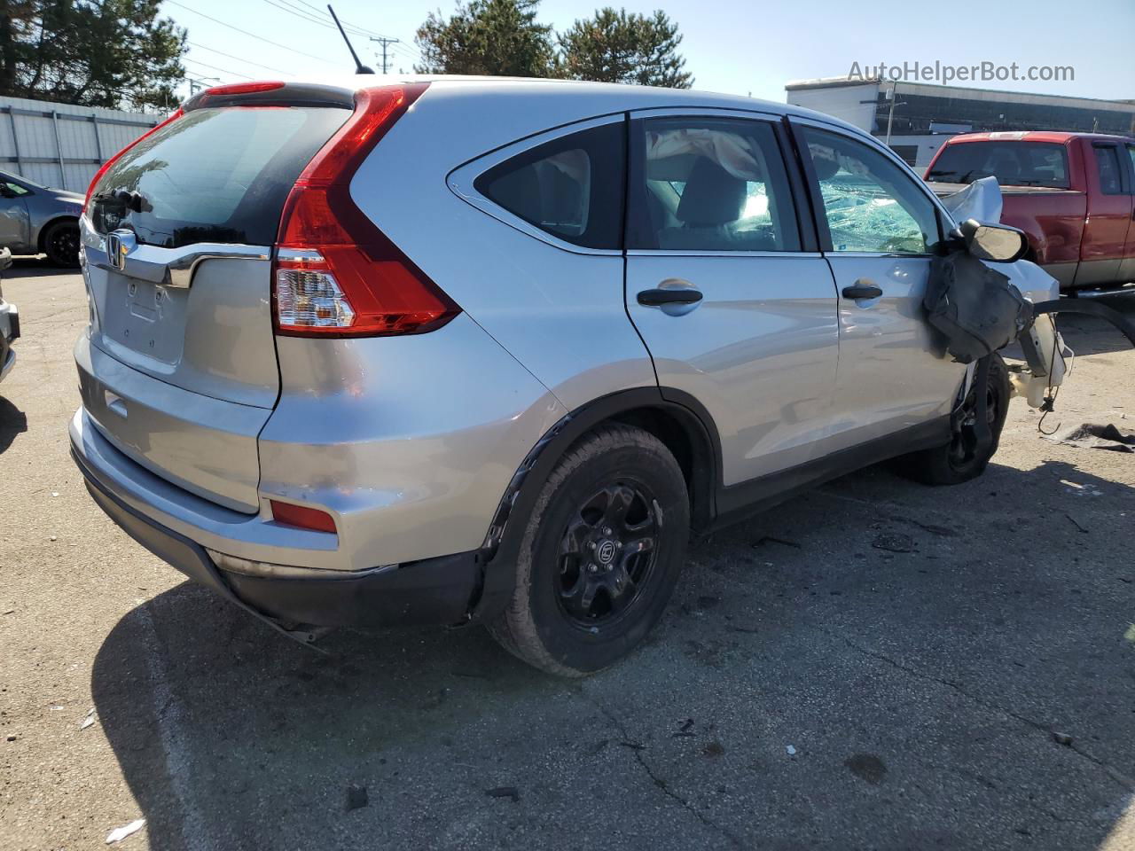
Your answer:
[[[1051,142],[961,142],[942,149],[926,179],[973,183],[991,175],[1003,186],[1067,189],[1068,153]]]

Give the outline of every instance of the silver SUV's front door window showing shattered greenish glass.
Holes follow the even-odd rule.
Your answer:
[[[832,251],[928,254],[935,250],[938,212],[909,175],[861,142],[814,127],[802,129]]]

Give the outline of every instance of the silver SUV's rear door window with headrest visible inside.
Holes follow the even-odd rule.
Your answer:
[[[799,251],[772,126],[745,119],[657,118],[636,135],[629,248]]]

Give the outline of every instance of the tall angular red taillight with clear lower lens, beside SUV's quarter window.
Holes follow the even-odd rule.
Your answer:
[[[355,111],[304,169],[284,204],[272,269],[285,336],[422,334],[460,312],[351,197],[351,178],[426,84],[359,93]]]

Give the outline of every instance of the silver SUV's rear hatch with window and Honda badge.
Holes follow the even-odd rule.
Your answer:
[[[272,244],[296,178],[352,100],[312,87],[291,101],[211,91],[92,184],[82,220],[91,330],[76,361],[87,414],[119,450],[254,513],[257,436],[279,394]]]

